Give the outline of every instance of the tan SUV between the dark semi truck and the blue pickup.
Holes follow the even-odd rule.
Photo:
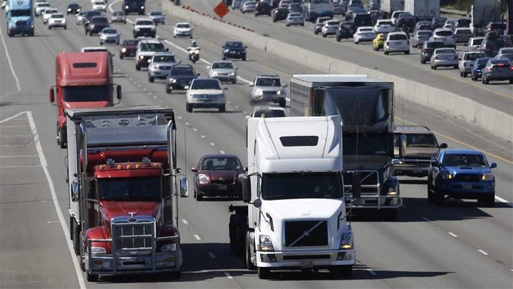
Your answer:
[[[396,125],[394,127],[394,152],[399,156],[401,135],[406,136],[406,152],[398,164],[393,166],[395,176],[426,177],[432,160],[440,149],[447,144],[438,141],[429,129],[423,125]]]

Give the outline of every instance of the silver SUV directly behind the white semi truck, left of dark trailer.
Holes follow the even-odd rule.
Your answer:
[[[286,105],[286,84],[281,82],[278,75],[257,75],[252,83],[250,103],[260,103],[265,101],[272,101],[279,103],[279,106],[285,107]]]

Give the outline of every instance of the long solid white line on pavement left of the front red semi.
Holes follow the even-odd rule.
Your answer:
[[[32,130],[33,140],[34,140],[34,144],[36,145],[36,151],[38,152],[38,155],[39,155],[41,167],[43,167],[43,172],[45,174],[46,180],[48,181],[48,187],[50,188],[50,192],[51,192],[51,196],[52,196],[52,200],[53,200],[53,206],[56,210],[59,222],[61,223],[61,228],[63,230],[64,236],[66,237],[67,234],[69,233],[69,229],[66,225],[66,224],[68,224],[68,222],[66,221],[66,219],[64,219],[64,216],[63,216],[60,206],[58,204],[56,189],[55,189],[55,186],[53,186],[53,182],[50,177],[50,172],[48,172],[48,167],[47,167],[48,163],[46,162],[46,157],[43,153],[43,147],[41,147],[41,142],[39,142],[39,135],[38,135],[37,129],[36,129],[36,122],[34,122],[34,120],[33,120],[31,111],[27,111],[26,115],[28,118],[28,124],[30,125],[31,130]],[[75,250],[73,250],[73,244],[71,243],[71,240],[69,238],[66,237],[65,240],[66,240],[66,244],[68,245],[68,251],[71,256],[71,261],[73,263],[73,266],[75,267],[75,273],[77,275],[78,285],[80,286],[81,289],[86,289],[86,283],[84,283],[82,270],[76,260]]]

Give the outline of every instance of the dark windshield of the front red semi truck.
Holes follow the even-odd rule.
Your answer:
[[[160,177],[98,179],[98,192],[103,201],[160,201]]]

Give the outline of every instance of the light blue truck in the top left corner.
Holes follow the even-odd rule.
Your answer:
[[[7,35],[33,36],[32,0],[9,0],[6,7]]]

